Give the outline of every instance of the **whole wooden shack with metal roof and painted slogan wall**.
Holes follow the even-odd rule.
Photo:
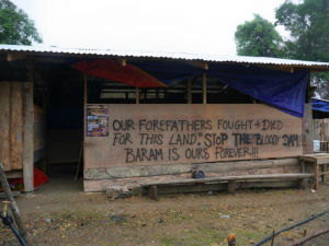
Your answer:
[[[26,191],[36,162],[77,165],[81,142],[84,191],[186,179],[193,171],[299,173],[297,156],[313,153],[309,72],[329,70],[274,58],[0,51],[0,153],[9,174],[22,172]],[[269,96],[258,87],[265,82],[282,86]],[[285,107],[297,101],[298,110]]]

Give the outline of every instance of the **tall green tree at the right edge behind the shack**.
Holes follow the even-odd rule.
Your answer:
[[[285,40],[288,58],[329,62],[329,0],[304,0],[299,4],[286,0],[276,9],[275,25],[291,32]],[[318,86],[321,98],[329,99],[329,74],[315,74],[311,82]]]

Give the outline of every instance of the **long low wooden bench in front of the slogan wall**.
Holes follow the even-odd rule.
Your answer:
[[[190,178],[180,180],[168,180],[168,181],[155,181],[141,184],[141,188],[148,189],[148,198],[151,200],[157,200],[157,187],[158,186],[180,186],[180,185],[195,185],[195,184],[218,184],[227,181],[227,190],[229,194],[235,195],[236,192],[236,181],[245,180],[292,180],[297,179],[297,187],[306,189],[308,184],[308,178],[313,177],[314,174],[266,174],[266,175],[246,175],[246,176],[226,176],[226,177],[214,177],[214,178]]]

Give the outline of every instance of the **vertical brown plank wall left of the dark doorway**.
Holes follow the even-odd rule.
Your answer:
[[[26,91],[23,89],[25,83],[22,82],[0,82],[0,156],[5,171],[23,168],[23,153],[24,149],[26,149],[23,143],[25,120],[23,112],[25,109],[30,112],[30,109],[25,108],[25,104],[23,103],[25,98],[24,93]],[[31,83],[26,86],[32,87]],[[29,101],[31,99],[32,97],[29,97]],[[32,110],[33,115],[31,117],[31,114],[29,114],[29,117],[32,118],[32,120],[35,119],[35,121],[33,128],[32,126],[26,126],[25,130],[25,136],[30,136],[32,141],[25,140],[29,143],[29,148],[33,148],[32,156],[29,155],[29,159],[34,162],[37,160],[34,160],[33,152],[39,152],[39,150],[46,148],[46,117],[37,106],[34,106]],[[29,151],[25,150],[25,152]],[[42,153],[43,156],[45,156],[45,151],[42,151]]]

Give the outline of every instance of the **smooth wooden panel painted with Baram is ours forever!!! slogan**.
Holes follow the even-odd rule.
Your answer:
[[[107,116],[94,119],[99,108]],[[250,105],[88,105],[84,168],[298,156],[302,119]],[[98,108],[99,107],[99,108]],[[94,108],[94,112],[93,109]],[[106,112],[106,109],[104,109]],[[94,120],[109,119],[104,136]],[[101,126],[102,128],[102,126]],[[98,129],[98,128],[95,128]],[[106,131],[107,129],[107,131]]]

